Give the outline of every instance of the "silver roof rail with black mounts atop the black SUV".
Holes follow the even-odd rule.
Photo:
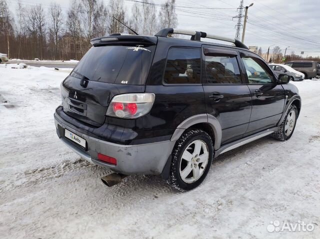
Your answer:
[[[229,38],[229,37],[224,37],[224,36],[218,36],[218,35],[213,35],[213,34],[208,34],[203,31],[195,31],[195,30],[183,30],[183,29],[175,29],[175,28],[163,28],[159,30],[155,36],[163,36],[167,37],[169,34],[182,34],[182,35],[191,35],[190,40],[201,40],[202,38],[210,38],[210,39],[216,39],[216,40],[224,40],[228,42],[232,42],[235,44],[236,47],[244,48],[244,49],[249,49],[245,44],[243,44],[241,41]]]

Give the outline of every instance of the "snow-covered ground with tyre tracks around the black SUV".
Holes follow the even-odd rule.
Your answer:
[[[302,109],[290,140],[229,151],[181,193],[157,176],[108,188],[106,169],[59,141],[53,111],[67,74],[0,67],[1,238],[319,238],[320,80],[294,82]],[[268,232],[276,220],[314,229]]]

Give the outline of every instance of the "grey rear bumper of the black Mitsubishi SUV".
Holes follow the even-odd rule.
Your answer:
[[[54,122],[59,138],[81,158],[128,175],[160,174],[175,143],[175,141],[166,140],[136,145],[117,144],[81,133],[76,128],[70,127],[69,124],[65,124],[56,113],[54,114]],[[86,148],[82,148],[64,137],[65,128],[84,138]],[[99,160],[98,153],[116,158],[116,165]]]

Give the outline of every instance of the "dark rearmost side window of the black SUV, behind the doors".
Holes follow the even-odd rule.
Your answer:
[[[170,48],[164,71],[167,84],[201,83],[200,48]]]

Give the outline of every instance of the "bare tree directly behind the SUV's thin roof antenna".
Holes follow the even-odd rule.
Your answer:
[[[125,13],[123,8],[123,0],[109,0],[108,7],[108,32],[109,33],[122,33],[124,32],[124,25],[118,22],[125,21]],[[114,17],[116,19],[114,19]]]

